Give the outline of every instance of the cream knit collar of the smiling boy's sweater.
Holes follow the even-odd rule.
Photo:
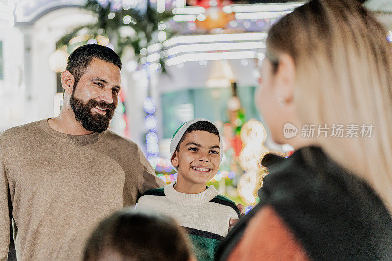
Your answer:
[[[188,194],[176,191],[174,189],[175,183],[176,182],[173,182],[172,184],[167,185],[163,191],[167,198],[176,204],[192,206],[201,205],[219,195],[219,192],[215,189],[214,185],[207,187],[207,189],[201,193]]]

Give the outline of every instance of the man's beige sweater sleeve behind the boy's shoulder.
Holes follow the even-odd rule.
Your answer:
[[[156,174],[143,152],[138,147],[139,162],[141,173],[137,175],[139,196],[146,190],[156,189],[166,186],[166,183]]]

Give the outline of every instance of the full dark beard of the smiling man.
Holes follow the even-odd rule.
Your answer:
[[[85,103],[83,100],[75,97],[75,89],[73,88],[70,105],[75,113],[76,120],[79,121],[83,128],[87,131],[103,132],[110,124],[110,119],[113,117],[114,110],[116,109],[113,103],[106,103],[103,101],[89,100]],[[100,108],[107,108],[106,114],[92,113],[91,109],[95,106]]]

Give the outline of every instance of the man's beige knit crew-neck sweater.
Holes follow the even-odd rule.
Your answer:
[[[112,131],[76,136],[48,119],[0,134],[0,261],[12,218],[18,261],[77,261],[102,218],[164,186],[138,146]]]

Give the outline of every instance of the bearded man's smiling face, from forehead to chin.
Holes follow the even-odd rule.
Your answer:
[[[116,65],[93,58],[77,86],[70,105],[84,129],[105,131],[118,104],[121,74]]]

